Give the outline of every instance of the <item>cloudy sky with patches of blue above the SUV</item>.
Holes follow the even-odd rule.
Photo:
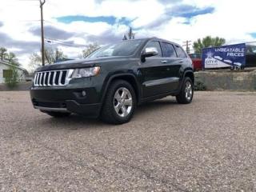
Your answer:
[[[86,45],[158,37],[183,45],[206,35],[228,44],[256,41],[255,0],[46,0],[46,47],[78,58]],[[0,0],[0,46],[29,70],[30,55],[41,48],[38,0]],[[50,40],[50,41],[49,41]]]

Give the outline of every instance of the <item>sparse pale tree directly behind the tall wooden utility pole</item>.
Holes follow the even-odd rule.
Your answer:
[[[66,60],[66,55],[62,52],[62,50],[59,50],[58,48],[51,49],[48,48],[45,50],[45,59],[46,64],[54,64],[54,62],[60,62],[63,60]],[[41,53],[34,53],[30,56],[30,67],[34,70],[38,68],[39,66],[42,66],[42,55]]]

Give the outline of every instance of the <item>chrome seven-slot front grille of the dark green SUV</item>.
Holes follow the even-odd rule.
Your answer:
[[[34,86],[66,86],[74,70],[49,70],[34,75]]]

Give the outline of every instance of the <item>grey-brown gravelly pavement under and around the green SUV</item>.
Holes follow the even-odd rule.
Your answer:
[[[256,93],[164,98],[130,123],[34,110],[0,92],[0,191],[256,191]]]

